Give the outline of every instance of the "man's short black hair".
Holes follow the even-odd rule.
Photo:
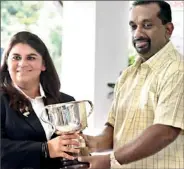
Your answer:
[[[172,22],[171,6],[169,3],[163,0],[155,0],[155,1],[137,0],[132,3],[132,7],[135,7],[138,5],[151,4],[151,3],[158,4],[158,6],[160,7],[160,12],[158,13],[158,17],[161,19],[163,25],[167,24],[168,22]]]

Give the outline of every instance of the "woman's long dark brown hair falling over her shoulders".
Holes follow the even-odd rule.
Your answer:
[[[50,103],[58,103],[60,80],[56,72],[50,54],[43,41],[35,34],[22,31],[16,33],[10,40],[9,45],[3,52],[3,62],[0,69],[0,88],[10,97],[10,105],[16,109],[30,107],[30,102],[12,85],[12,80],[8,71],[7,59],[11,49],[18,43],[27,44],[35,49],[42,57],[46,70],[40,74],[40,83],[43,87],[46,97]]]

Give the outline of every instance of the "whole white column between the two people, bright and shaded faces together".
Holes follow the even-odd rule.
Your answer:
[[[101,128],[112,100],[108,82],[128,65],[128,1],[63,1],[61,90],[90,99],[89,127]]]

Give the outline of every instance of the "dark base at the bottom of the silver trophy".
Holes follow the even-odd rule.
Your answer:
[[[64,160],[60,169],[87,169],[89,163],[79,162],[78,160]]]

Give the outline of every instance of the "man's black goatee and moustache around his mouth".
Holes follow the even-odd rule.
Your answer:
[[[144,55],[150,52],[151,40],[149,38],[135,38],[133,39],[133,46],[137,53]]]

